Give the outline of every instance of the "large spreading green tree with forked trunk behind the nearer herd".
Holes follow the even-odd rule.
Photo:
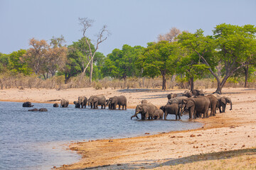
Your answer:
[[[252,51],[253,39],[255,38],[255,27],[232,26],[230,24],[220,24],[213,30],[213,36],[204,36],[203,30],[196,33],[183,32],[178,36],[178,41],[183,47],[195,52],[200,58],[200,62],[208,66],[208,70],[215,77],[218,87],[215,93],[221,94],[221,90],[234,72],[245,65],[248,53]],[[220,64],[225,68],[223,79],[215,73],[215,67]],[[239,64],[236,67],[236,64]]]

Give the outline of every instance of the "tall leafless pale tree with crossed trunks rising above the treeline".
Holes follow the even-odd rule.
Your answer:
[[[100,32],[97,34],[97,42],[95,45],[95,50],[92,51],[92,47],[90,45],[90,42],[88,40],[88,38],[85,36],[85,34],[87,33],[87,29],[90,28],[92,26],[92,23],[94,23],[94,20],[89,19],[89,18],[78,18],[80,25],[82,26],[82,35],[85,38],[85,41],[89,47],[89,54],[88,56],[90,57],[89,62],[87,63],[87,66],[84,68],[83,73],[85,73],[85,70],[87,69],[87,67],[90,64],[90,83],[92,83],[92,72],[93,72],[93,59],[95,57],[95,53],[97,52],[100,43],[102,43],[103,41],[107,40],[108,35],[110,35],[110,33],[107,30],[107,26],[104,25],[102,27],[102,29],[100,30]]]

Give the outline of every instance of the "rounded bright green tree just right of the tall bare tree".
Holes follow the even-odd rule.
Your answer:
[[[139,55],[142,54],[144,47],[123,45],[122,50],[114,49],[107,55],[105,66],[102,68],[104,76],[110,76],[117,79],[139,76],[140,70],[137,68],[136,62]]]

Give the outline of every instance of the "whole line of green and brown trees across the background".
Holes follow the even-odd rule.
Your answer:
[[[82,20],[84,19],[84,20]],[[87,18],[80,19],[85,22]],[[105,29],[106,27],[103,27]],[[86,28],[87,29],[87,28]],[[85,29],[85,30],[86,30]],[[167,89],[167,79],[185,83],[193,89],[196,79],[215,79],[216,93],[228,79],[255,80],[256,67],[256,28],[252,25],[233,26],[220,24],[213,29],[213,35],[203,35],[203,30],[188,33],[171,28],[169,33],[159,35],[156,42],[147,47],[123,45],[114,49],[106,57],[97,52],[98,45],[107,39],[98,39],[96,45],[85,36],[72,45],[64,45],[63,36],[46,40],[29,41],[28,50],[18,50],[9,55],[0,53],[0,84],[6,75],[23,74],[40,79],[63,77],[65,84],[83,82],[94,84],[100,79],[128,80],[144,77],[161,77],[162,89]],[[99,36],[100,37],[100,36]],[[102,37],[100,37],[102,38]],[[59,78],[60,79],[60,78]],[[84,82],[85,83],[85,82]],[[76,87],[76,86],[73,86]]]

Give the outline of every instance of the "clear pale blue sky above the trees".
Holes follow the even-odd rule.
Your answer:
[[[78,18],[95,22],[87,37],[95,44],[96,34],[107,25],[111,35],[98,52],[110,54],[124,44],[156,41],[173,27],[205,35],[220,23],[256,26],[255,0],[0,0],[0,52],[28,49],[28,41],[63,35],[66,45],[82,38]]]

